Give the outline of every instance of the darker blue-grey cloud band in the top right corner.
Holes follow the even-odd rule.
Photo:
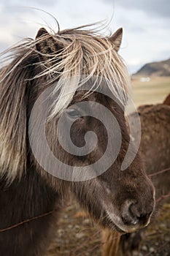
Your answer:
[[[121,7],[132,10],[143,10],[147,14],[159,15],[163,18],[170,17],[169,0],[104,0],[120,5]],[[128,11],[127,11],[128,12]]]

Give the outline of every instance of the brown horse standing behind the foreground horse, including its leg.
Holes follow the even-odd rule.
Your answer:
[[[139,147],[141,157],[147,174],[151,177],[155,186],[156,206],[155,212],[163,204],[163,195],[169,195],[169,129],[170,129],[170,94],[162,104],[141,105],[138,108],[141,124],[142,138]],[[134,127],[134,139],[139,136],[136,129],[136,113],[131,113],[131,120]],[[154,142],[154,146],[152,146]],[[166,197],[165,197],[166,198]],[[156,214],[151,219],[154,221]],[[105,256],[128,256],[139,255],[139,249],[144,237],[144,230],[128,233],[120,237],[118,233],[110,230],[103,231],[103,255]],[[108,242],[107,242],[108,241]]]

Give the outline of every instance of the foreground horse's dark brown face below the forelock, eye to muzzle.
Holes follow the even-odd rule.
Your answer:
[[[82,100],[84,94],[85,91],[79,91],[74,96],[69,108],[63,112],[63,120],[60,124],[63,146],[61,146],[61,140],[58,140],[57,146],[51,148],[60,161],[73,167],[72,170],[77,167],[82,171],[82,177],[85,178],[79,181],[79,178],[72,177],[73,179],[69,180],[69,187],[80,205],[90,213],[91,217],[104,227],[111,227],[120,232],[133,232],[150,222],[150,216],[155,207],[154,188],[144,172],[139,154],[136,154],[134,161],[126,170],[121,170],[130,140],[123,109],[112,99],[100,93],[93,92]],[[85,108],[81,108],[82,105],[79,104],[81,102],[86,103]],[[115,119],[110,121],[106,111],[102,113],[98,109],[98,104],[107,108],[117,121]],[[106,124],[103,124],[93,113],[98,113],[101,119],[103,116],[102,120],[109,122],[109,131],[106,129]],[[55,122],[51,121],[54,129],[53,131],[47,129],[50,131],[48,132],[49,136],[58,126],[59,120],[60,118]],[[70,122],[72,125],[69,125]],[[120,145],[117,142],[117,124],[122,136]],[[67,127],[70,127],[69,131]],[[85,137],[89,131],[96,134],[97,143],[93,140],[93,135],[91,138]],[[69,144],[69,140],[66,139],[68,134],[72,145],[66,145]],[[106,155],[106,159],[95,165],[107,151],[108,142],[111,145],[109,154]],[[91,145],[95,143],[96,145]],[[76,152],[72,151],[73,145],[80,151],[84,147],[85,154],[76,155]],[[117,157],[115,157],[115,148],[119,146]],[[90,147],[93,151],[90,151]],[[68,151],[72,151],[72,154],[69,154]],[[107,164],[112,158],[113,161],[108,167]],[[74,173],[74,175],[77,174]]]

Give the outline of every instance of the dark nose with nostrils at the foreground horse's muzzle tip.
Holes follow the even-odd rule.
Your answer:
[[[121,210],[121,217],[125,225],[145,226],[149,224],[152,211],[152,203],[142,207],[139,203],[126,200]]]

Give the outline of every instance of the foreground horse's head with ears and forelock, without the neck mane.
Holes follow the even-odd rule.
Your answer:
[[[109,99],[108,94],[93,91],[85,98],[85,91],[77,91],[80,85],[84,85],[84,82],[81,83],[83,78],[77,78],[90,74],[85,78],[89,82],[92,73],[99,80],[109,78],[107,80],[113,81],[112,94],[115,97],[120,88],[128,86],[127,71],[117,55],[122,30],[117,31],[111,40],[87,37],[84,33],[82,36],[80,31],[64,31],[63,37],[61,34],[60,37],[53,37],[42,29],[37,34],[36,50],[40,61],[43,60],[42,66],[51,65],[47,73],[52,78],[55,73],[61,74],[61,83],[55,89],[59,103],[55,101],[54,116],[62,107],[68,106],[70,101],[67,99],[72,99],[69,108],[59,118],[53,116],[47,123],[47,142],[59,163],[55,166],[53,157],[50,161],[48,151],[44,166],[49,162],[54,170],[50,174],[55,176],[55,189],[60,187],[63,195],[70,188],[81,206],[97,222],[122,232],[131,232],[149,223],[155,202],[154,189],[138,154],[125,170],[121,170],[130,141],[124,110],[116,100]],[[72,73],[66,75],[68,71]],[[40,77],[43,74],[46,75],[46,72],[42,70]],[[76,81],[72,74],[76,74]],[[55,76],[52,82],[54,80]],[[72,87],[77,92],[69,98]],[[63,97],[67,92],[68,95]],[[88,104],[85,105],[85,102]]]

